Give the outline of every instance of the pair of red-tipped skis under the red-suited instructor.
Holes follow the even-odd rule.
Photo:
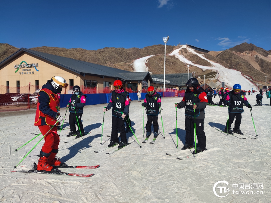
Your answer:
[[[30,166],[26,166],[26,167],[30,167]],[[20,172],[20,173],[36,173],[36,174],[54,174],[54,175],[67,175],[67,176],[79,176],[79,177],[91,177],[94,174],[78,174],[78,173],[67,173],[67,172],[61,172],[58,171],[57,168],[90,168],[90,169],[94,169],[94,168],[98,168],[100,167],[100,165],[96,165],[96,166],[69,166],[69,165],[62,165],[62,166],[54,166],[55,168],[53,168],[53,171],[37,171],[37,165],[36,163],[34,163],[34,167],[31,170],[28,171],[11,171],[11,172]]]

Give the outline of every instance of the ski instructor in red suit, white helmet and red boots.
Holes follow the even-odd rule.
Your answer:
[[[60,158],[57,159],[59,135],[57,125],[65,120],[60,115],[60,93],[62,88],[67,88],[66,80],[60,76],[54,76],[51,81],[42,86],[38,95],[38,105],[36,110],[35,125],[39,127],[42,135],[45,135],[53,125],[58,123],[44,137],[44,144],[40,151],[38,171],[51,171],[53,166],[59,166]]]

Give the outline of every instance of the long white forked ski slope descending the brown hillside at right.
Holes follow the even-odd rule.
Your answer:
[[[186,59],[183,55],[179,54],[180,49],[186,48],[189,52],[198,55],[204,60],[207,60],[209,63],[213,65],[211,66],[201,66],[195,63],[192,63],[192,61],[189,61]],[[254,85],[248,78],[243,76],[240,71],[228,69],[222,66],[219,63],[215,63],[211,60],[208,60],[207,58],[203,57],[201,54],[198,54],[195,52],[192,48],[188,47],[187,45],[182,45],[181,48],[174,50],[169,54],[170,56],[177,57],[180,61],[186,64],[190,64],[191,66],[197,66],[201,69],[210,69],[210,70],[216,70],[218,72],[217,79],[219,79],[220,82],[225,82],[225,85],[228,87],[233,87],[234,84],[238,83],[241,85],[242,90],[257,90],[257,85]]]

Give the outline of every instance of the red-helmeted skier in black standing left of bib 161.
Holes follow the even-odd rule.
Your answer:
[[[111,130],[111,139],[108,147],[117,145],[119,143],[118,139],[118,129],[120,130],[120,144],[118,148],[121,148],[127,145],[126,132],[124,127],[124,119],[129,112],[129,106],[131,100],[129,98],[129,93],[124,91],[122,82],[116,80],[114,82],[114,91],[112,91],[111,99],[109,104],[103,111],[108,111],[112,108],[112,130]]]

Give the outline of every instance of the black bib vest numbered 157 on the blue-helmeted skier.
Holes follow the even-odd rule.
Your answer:
[[[235,94],[232,90],[228,94],[230,97],[229,112],[243,113],[244,112],[243,102],[244,102],[244,97],[245,97],[244,92],[241,91],[239,94]]]

